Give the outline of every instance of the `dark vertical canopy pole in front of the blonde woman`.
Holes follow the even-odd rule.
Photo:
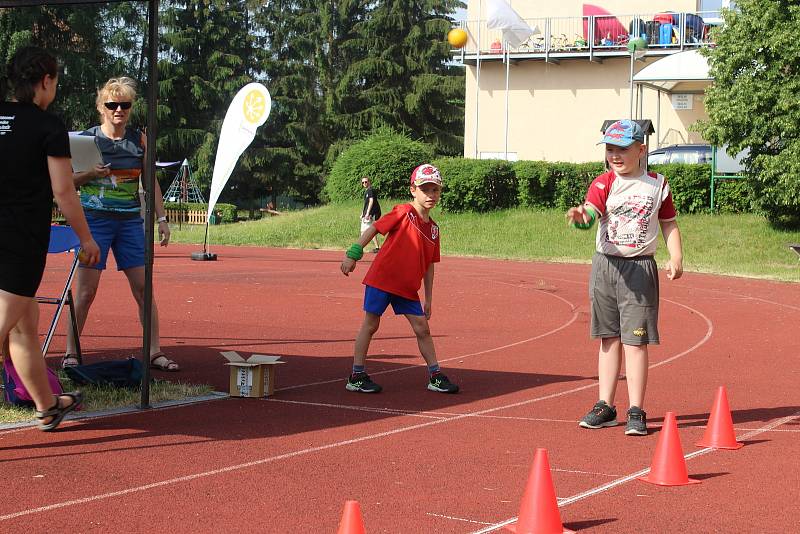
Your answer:
[[[156,106],[158,105],[158,0],[149,0],[147,13],[147,153],[144,178],[147,188],[145,202],[144,245],[144,317],[142,317],[142,390],[139,408],[150,408],[150,340],[153,334],[153,241],[156,191]]]

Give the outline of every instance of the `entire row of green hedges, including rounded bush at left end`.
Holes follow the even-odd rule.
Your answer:
[[[580,204],[603,164],[544,161],[439,158],[432,149],[392,132],[379,132],[346,148],[333,165],[325,193],[332,201],[361,195],[360,178],[371,176],[381,198],[407,198],[408,176],[420,163],[431,161],[444,180],[440,205],[446,211],[486,212],[515,206],[566,210]],[[654,165],[667,177],[679,213],[709,213],[711,167],[697,164]],[[752,209],[752,189],[746,180],[717,183],[715,205],[721,212]]]

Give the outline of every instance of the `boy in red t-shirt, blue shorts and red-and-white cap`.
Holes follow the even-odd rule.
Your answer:
[[[364,322],[356,336],[353,372],[347,379],[348,391],[379,393],[381,386],[365,371],[367,351],[378,331],[381,315],[389,304],[396,315],[405,315],[422,357],[428,364],[428,389],[456,393],[458,386],[439,369],[428,319],[433,298],[433,264],[439,261],[439,227],[430,212],[442,194],[442,177],[433,165],[420,165],[411,173],[411,196],[408,204],[395,206],[391,212],[367,228],[347,250],[341,270],[348,276],[364,254],[364,247],[378,233],[386,239],[364,277]],[[424,309],[417,294],[425,282]]]

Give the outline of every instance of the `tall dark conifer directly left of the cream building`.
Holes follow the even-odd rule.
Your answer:
[[[434,146],[463,150],[464,71],[450,65],[444,36],[457,0],[374,2],[351,46],[366,51],[344,71],[337,92],[351,130],[389,126]]]

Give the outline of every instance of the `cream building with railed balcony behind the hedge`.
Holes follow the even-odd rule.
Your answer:
[[[597,161],[603,122],[631,117],[652,121],[652,149],[704,142],[692,125],[707,117],[703,91],[710,82],[682,69],[705,68],[707,76],[696,51],[712,44],[720,9],[731,2],[507,0],[541,32],[516,47],[487,27],[487,2],[469,1],[462,23],[469,41],[454,53],[466,67],[465,157]],[[648,42],[641,57],[627,49],[631,34]],[[637,80],[678,54],[662,69],[673,79],[661,73],[631,83],[632,72]]]

